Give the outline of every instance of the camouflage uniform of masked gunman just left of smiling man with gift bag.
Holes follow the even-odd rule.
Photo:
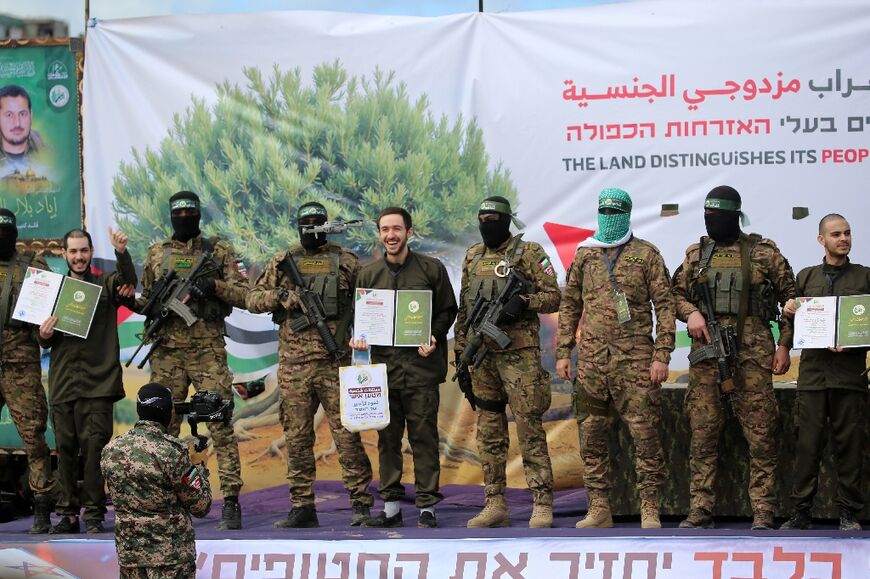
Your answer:
[[[289,252],[279,253],[272,258],[246,300],[248,310],[252,313],[278,314],[279,415],[287,441],[287,478],[290,480],[291,502],[294,508],[314,505],[314,413],[318,404],[321,404],[338,449],[342,478],[351,502],[370,507],[374,502],[368,491],[372,481],[371,463],[359,433],[348,432],[341,424],[338,370],[340,366],[350,364],[350,357],[345,353],[340,360],[336,360],[327,351],[313,325],[298,332],[293,331],[293,318],[302,313],[298,293],[294,291],[298,288],[278,268],[288,254],[295,257],[299,272],[309,285],[315,279],[337,278],[337,297],[341,303],[339,311],[329,315],[327,322],[333,336],[336,335],[339,316],[346,315],[351,307],[350,300],[360,266],[356,254],[334,243],[313,251],[295,245]],[[323,285],[328,286],[329,283]],[[283,304],[279,297],[281,289],[291,290]],[[318,293],[321,294],[321,300],[325,301],[327,296],[323,294],[330,292],[324,288]],[[331,299],[335,298],[335,295],[331,296]],[[345,349],[346,337],[342,335],[336,339],[339,347]]]

